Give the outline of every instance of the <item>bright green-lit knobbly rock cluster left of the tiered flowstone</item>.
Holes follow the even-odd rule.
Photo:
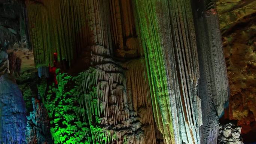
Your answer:
[[[50,131],[55,144],[91,143],[87,115],[77,102],[79,99],[72,77],[56,70],[58,85],[49,86],[43,102],[50,118]],[[72,84],[71,84],[72,83]],[[44,83],[42,83],[43,86]],[[44,90],[43,90],[44,91]],[[42,92],[41,92],[42,93]],[[41,95],[41,94],[40,94]]]

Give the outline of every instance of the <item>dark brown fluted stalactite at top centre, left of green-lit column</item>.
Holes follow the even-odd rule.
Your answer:
[[[111,34],[118,57],[136,57],[143,55],[135,31],[134,9],[131,0],[110,0]]]

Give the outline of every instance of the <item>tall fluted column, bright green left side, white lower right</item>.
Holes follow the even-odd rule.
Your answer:
[[[158,129],[166,144],[199,144],[199,69],[190,1],[134,2]]]

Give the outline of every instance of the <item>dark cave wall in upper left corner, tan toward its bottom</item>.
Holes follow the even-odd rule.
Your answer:
[[[0,45],[9,55],[10,73],[24,81],[34,72],[34,56],[28,39],[23,0],[0,1]]]

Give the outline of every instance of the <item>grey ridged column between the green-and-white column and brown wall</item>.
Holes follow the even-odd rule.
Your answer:
[[[199,59],[198,94],[202,99],[201,144],[216,144],[219,118],[228,107],[229,87],[216,4],[194,1]]]

